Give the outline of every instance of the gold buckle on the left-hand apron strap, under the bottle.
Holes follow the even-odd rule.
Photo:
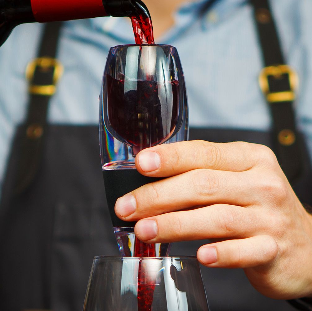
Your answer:
[[[56,91],[56,83],[58,79],[61,78],[61,75],[63,74],[64,68],[62,64],[55,58],[51,57],[39,57],[36,59],[33,59],[31,62],[27,64],[26,67],[26,79],[31,82],[34,73],[37,67],[40,67],[40,70],[42,71],[48,71],[51,68],[54,68],[53,72],[53,84],[49,85],[36,85],[36,84],[30,84],[28,87],[28,92],[30,94],[36,94],[36,95],[46,95],[51,96]]]

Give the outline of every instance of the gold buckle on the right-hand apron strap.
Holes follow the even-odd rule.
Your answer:
[[[290,90],[271,93],[268,81],[269,76],[280,79],[283,74],[288,74]],[[293,101],[296,98],[295,90],[298,87],[298,75],[288,65],[268,66],[263,68],[259,74],[259,85],[263,94],[266,95],[266,100],[271,104],[282,101]]]

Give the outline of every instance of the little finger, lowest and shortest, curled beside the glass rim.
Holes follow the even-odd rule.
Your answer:
[[[278,253],[273,237],[259,235],[200,247],[197,259],[207,267],[250,268],[271,262]]]

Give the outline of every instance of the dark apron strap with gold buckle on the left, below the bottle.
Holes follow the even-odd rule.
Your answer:
[[[15,195],[21,194],[32,184],[40,167],[48,104],[55,93],[57,80],[63,72],[62,65],[55,59],[61,24],[61,22],[45,24],[38,58],[27,65],[28,114],[13,188]]]

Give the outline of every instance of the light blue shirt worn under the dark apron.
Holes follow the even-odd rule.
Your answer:
[[[185,74],[191,126],[268,130],[258,86],[261,51],[245,0],[220,0],[198,18],[204,1],[186,2],[156,43],[177,47]],[[287,63],[299,74],[296,116],[312,154],[312,1],[272,0]],[[18,26],[0,48],[0,184],[16,126],[25,118],[25,68],[36,57],[42,25]],[[134,43],[128,18],[66,22],[58,58],[65,71],[51,99],[53,124],[96,124],[102,71],[111,46]],[[0,185],[0,186],[1,186]]]

